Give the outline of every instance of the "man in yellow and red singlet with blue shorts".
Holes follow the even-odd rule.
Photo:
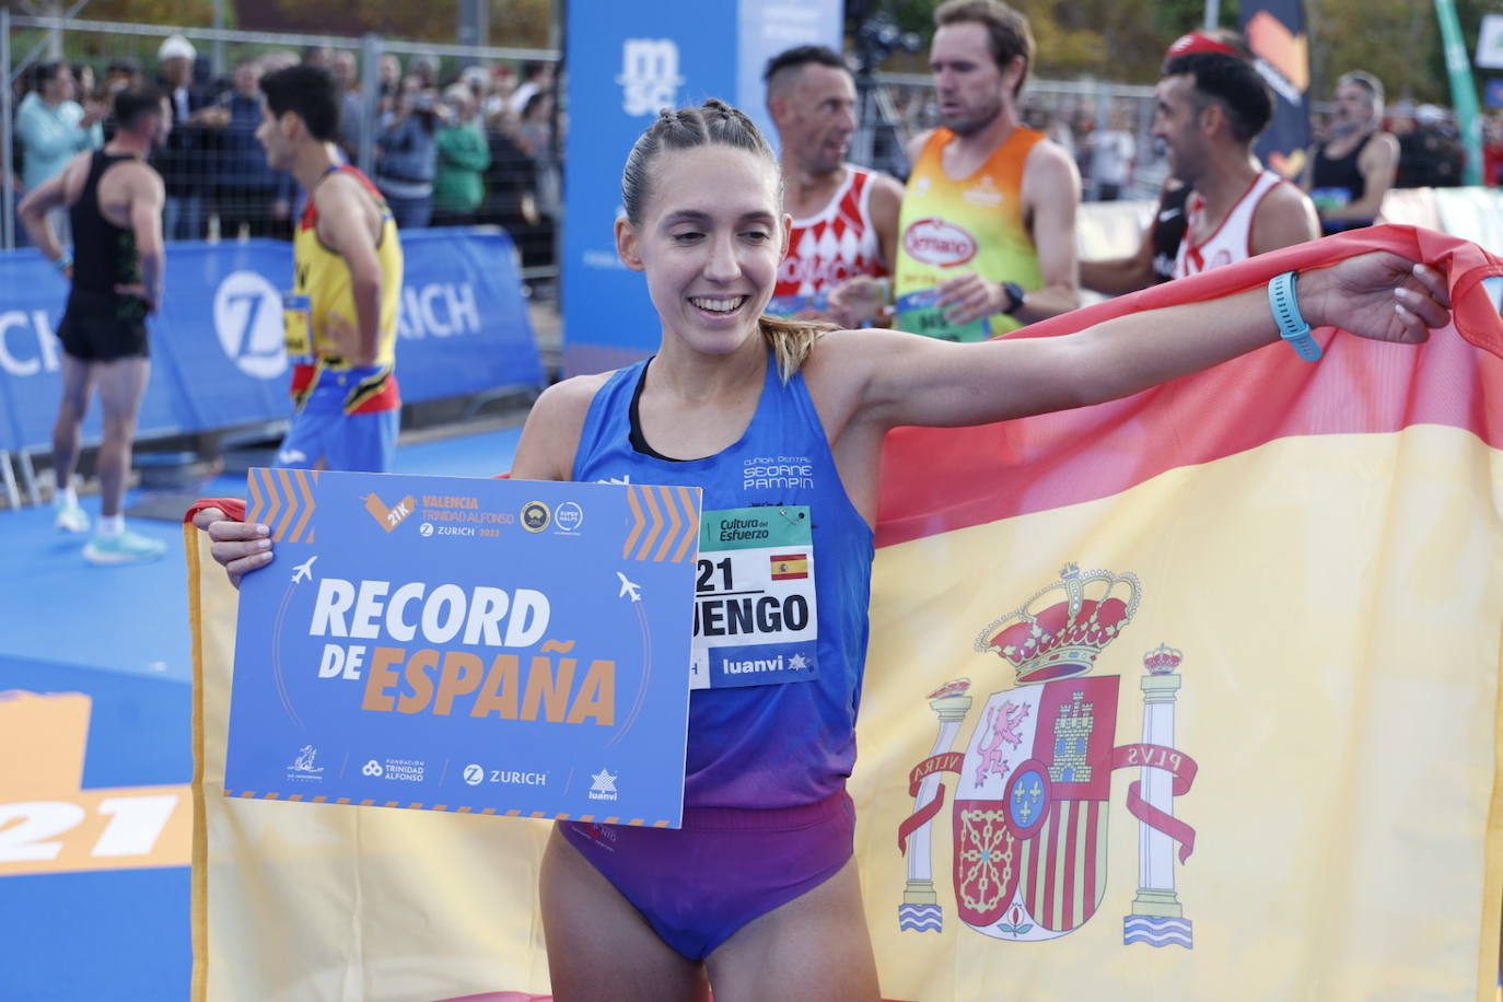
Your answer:
[[[308,192],[284,300],[296,413],[277,466],[385,473],[397,451],[401,243],[376,186],[334,150],[340,89],[319,66],[262,78],[256,138]]]

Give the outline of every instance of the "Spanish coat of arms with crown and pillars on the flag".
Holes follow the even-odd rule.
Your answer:
[[[1195,760],[1172,745],[1183,655],[1165,644],[1144,656],[1142,741],[1115,745],[1120,676],[1091,676],[1138,611],[1132,574],[1081,572],[990,622],[975,649],[1012,665],[1016,685],[984,699],[963,751],[971,681],[930,693],[939,718],[930,756],[909,772],[914,813],[897,829],[908,883],[897,909],[905,931],[939,930],[933,820],[953,775],[954,906],[960,921],[993,939],[1042,942],[1085,925],[1106,894],[1106,819],[1117,769],[1136,769],[1127,813],[1138,820],[1138,892],[1123,918],[1123,945],[1193,948],[1192,922],[1175,894],[1175,858],[1195,849],[1195,829],[1174,817],[1174,798],[1195,781]]]

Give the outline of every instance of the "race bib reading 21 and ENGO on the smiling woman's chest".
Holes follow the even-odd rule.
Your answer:
[[[819,678],[818,623],[807,505],[703,514],[690,688]]]

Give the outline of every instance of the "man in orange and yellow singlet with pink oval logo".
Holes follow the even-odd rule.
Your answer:
[[[896,326],[980,341],[1079,305],[1075,161],[1022,125],[1028,20],[1001,0],[935,11],[929,65],[942,126],[917,137],[899,219]],[[833,293],[861,312],[876,282]]]

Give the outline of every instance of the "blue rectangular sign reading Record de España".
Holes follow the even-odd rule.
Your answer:
[[[678,826],[699,505],[251,470],[225,793]]]

